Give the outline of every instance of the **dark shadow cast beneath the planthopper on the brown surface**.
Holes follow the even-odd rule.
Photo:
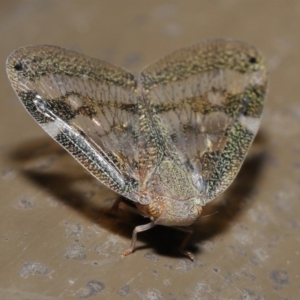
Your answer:
[[[252,147],[258,150],[253,151],[252,155],[250,151],[233,184],[219,199],[204,207],[202,217],[193,226],[188,250],[195,254],[201,252],[201,246],[196,245],[228,230],[232,221],[247,208],[249,201],[255,201],[256,183],[266,161],[266,153],[261,150],[265,148],[264,144],[265,137],[260,133]],[[85,172],[66,151],[49,139],[23,144],[10,158],[28,180],[99,227],[127,237],[128,245],[134,227],[149,222],[149,219],[127,211],[119,210],[117,215],[113,214],[111,207],[119,196]],[[126,199],[124,201],[133,205]],[[174,228],[156,226],[138,235],[136,251],[150,248],[161,255],[182,257],[176,248],[185,234]]]

